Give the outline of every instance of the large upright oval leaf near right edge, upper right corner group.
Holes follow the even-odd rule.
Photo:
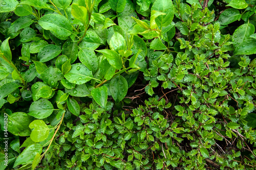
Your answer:
[[[245,23],[239,26],[233,33],[232,42],[234,47],[240,46],[240,44],[249,38],[255,31],[254,26],[251,23]]]

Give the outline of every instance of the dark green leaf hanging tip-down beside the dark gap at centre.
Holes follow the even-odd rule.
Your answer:
[[[127,91],[128,84],[124,77],[118,75],[110,81],[110,93],[117,103],[125,97]]]

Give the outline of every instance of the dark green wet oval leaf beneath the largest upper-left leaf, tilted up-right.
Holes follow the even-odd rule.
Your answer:
[[[49,44],[41,48],[37,58],[40,62],[46,62],[54,57],[58,56],[61,53],[61,48],[58,45]]]

